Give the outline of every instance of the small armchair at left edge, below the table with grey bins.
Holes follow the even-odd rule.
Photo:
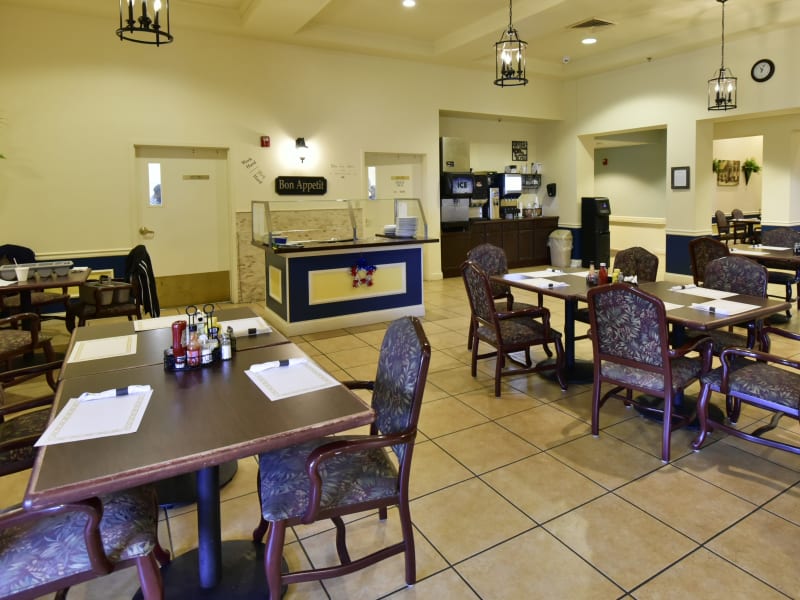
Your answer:
[[[39,315],[17,313],[0,319],[0,382],[10,385],[25,381],[25,377],[14,377],[13,381],[9,378],[4,379],[3,374],[24,366],[17,363],[25,361],[26,357],[32,357],[31,360],[35,360],[35,354],[39,351],[44,354],[44,362],[55,360],[50,337],[41,333]],[[47,383],[52,389],[56,389],[53,371],[47,372]]]

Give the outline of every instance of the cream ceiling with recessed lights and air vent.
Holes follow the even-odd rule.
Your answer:
[[[507,0],[417,0],[414,8],[404,8],[401,0],[170,3],[176,44],[182,31],[194,29],[492,73],[494,43],[509,21]],[[0,4],[107,15],[112,28],[118,21],[114,0],[0,0]],[[528,77],[579,77],[719,46],[721,16],[722,5],[714,0],[516,0],[513,4],[513,24],[528,43]],[[589,20],[611,24],[573,27]],[[729,0],[725,5],[726,41],[798,23],[798,0]],[[587,34],[597,38],[597,44],[582,45]],[[715,66],[709,65],[709,74]],[[750,65],[727,66],[736,72]]]

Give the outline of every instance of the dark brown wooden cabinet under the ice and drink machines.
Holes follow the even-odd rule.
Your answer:
[[[442,232],[442,274],[460,277],[458,267],[470,248],[493,244],[506,253],[509,268],[550,263],[547,239],[558,228],[558,217],[472,221],[467,231]]]

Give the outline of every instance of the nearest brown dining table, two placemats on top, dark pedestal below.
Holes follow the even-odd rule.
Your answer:
[[[73,335],[86,335],[78,333],[82,329]],[[86,392],[147,385],[152,396],[132,433],[42,446],[23,505],[53,506],[196,472],[198,545],[162,568],[165,597],[266,597],[258,559],[263,546],[251,540],[222,542],[220,465],[374,420],[370,406],[335,380],[330,387],[272,400],[245,373],[252,365],[291,358],[316,364],[286,341],[237,346],[231,360],[183,371],[166,370],[161,361],[108,368],[101,364],[108,359],[87,361],[97,364],[95,372],[65,371],[51,421]],[[258,515],[255,502],[254,523]]]

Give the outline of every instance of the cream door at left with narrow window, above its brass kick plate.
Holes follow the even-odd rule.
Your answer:
[[[136,146],[135,201],[136,236],[157,277],[235,275],[226,149]]]

